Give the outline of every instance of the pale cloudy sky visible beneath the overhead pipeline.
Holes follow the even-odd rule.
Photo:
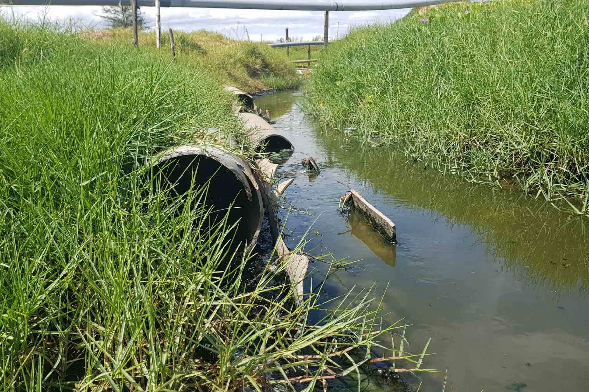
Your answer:
[[[319,0],[317,0],[319,1]],[[155,9],[143,7],[151,26],[155,25]],[[330,12],[330,38],[335,38],[337,22],[339,35],[344,34],[350,26],[370,24],[376,21],[390,21],[401,18],[409,9],[395,9],[391,11],[361,11],[361,12]],[[102,19],[97,16],[101,8],[96,6],[0,6],[0,14],[11,17],[25,16],[38,20],[59,19],[67,21],[74,19],[85,26],[104,28]],[[264,41],[276,40],[284,36],[284,28],[289,28],[289,35],[311,39],[316,35],[323,35],[323,12],[316,11],[260,11],[254,9],[211,9],[211,8],[162,8],[161,24],[167,29],[181,29],[193,31],[207,29],[224,33],[236,38],[236,28],[239,26],[239,38],[244,35],[246,27],[252,41],[259,41],[262,34]]]

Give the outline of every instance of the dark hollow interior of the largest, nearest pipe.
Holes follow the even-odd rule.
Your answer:
[[[250,201],[243,184],[234,173],[221,163],[204,155],[181,155],[171,158],[155,166],[152,173],[154,187],[165,189],[171,199],[176,197],[184,199],[180,204],[181,209],[186,207],[187,192],[190,190],[193,177],[194,187],[204,185],[210,179],[209,192],[204,200],[207,208],[213,206],[213,212],[209,214],[207,222],[204,222],[201,228],[206,232],[209,228],[216,229],[215,226],[221,222],[227,209],[234,202],[227,224],[233,225],[241,219],[236,232],[230,235],[236,234],[233,249],[240,242],[240,248],[243,249],[244,242],[250,243],[256,233],[257,222],[262,213],[257,194],[252,192],[253,200]],[[250,186],[250,189],[254,191],[253,186]],[[181,210],[177,213],[181,213]],[[195,222],[195,225],[199,224],[200,222]]]

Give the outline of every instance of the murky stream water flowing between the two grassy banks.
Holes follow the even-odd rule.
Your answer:
[[[326,298],[379,284],[386,321],[401,317],[410,351],[432,338],[425,367],[448,368],[446,391],[589,391],[589,222],[520,192],[472,186],[384,148],[360,148],[305,118],[300,92],[257,99],[296,151],[279,167],[294,177],[287,199],[293,236],[306,250],[362,260],[327,279]],[[309,176],[300,160],[322,169]],[[352,186],[397,226],[396,247],[358,216],[337,212]],[[350,226],[351,225],[351,226]],[[289,238],[292,245],[296,238]],[[316,283],[327,264],[314,263]],[[310,289],[309,282],[306,290]],[[423,374],[422,390],[441,391],[443,374]],[[382,389],[382,388],[381,388]]]

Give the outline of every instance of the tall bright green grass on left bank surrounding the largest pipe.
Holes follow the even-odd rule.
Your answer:
[[[369,296],[309,326],[316,297],[292,306],[282,267],[264,264],[246,284],[243,256],[223,272],[227,222],[194,229],[206,207],[170,205],[143,181],[151,153],[198,129],[244,139],[219,83],[251,61],[211,74],[181,48],[171,64],[154,51],[0,22],[1,390],[284,384],[333,367],[297,356],[331,350],[327,334],[340,349],[381,335],[369,333],[379,328]],[[271,85],[243,78],[242,88]],[[202,194],[190,190],[188,202]]]

